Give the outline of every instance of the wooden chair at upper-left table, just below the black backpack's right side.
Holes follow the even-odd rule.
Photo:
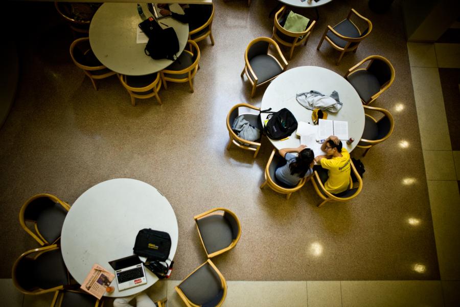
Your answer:
[[[193,40],[187,41],[190,44],[190,51],[184,50],[171,65],[160,72],[163,85],[168,89],[166,81],[171,82],[189,82],[190,91],[193,93],[193,77],[198,71],[198,62],[200,60],[200,49]]]

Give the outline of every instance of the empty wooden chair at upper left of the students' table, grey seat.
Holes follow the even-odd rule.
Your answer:
[[[278,55],[283,64],[275,56],[268,53],[270,45],[274,47],[277,52],[275,55]],[[269,37],[258,37],[249,42],[244,53],[244,62],[245,65],[241,72],[241,77],[246,74],[251,83],[251,97],[254,97],[256,87],[278,77],[278,75],[286,70],[288,65],[277,42]]]

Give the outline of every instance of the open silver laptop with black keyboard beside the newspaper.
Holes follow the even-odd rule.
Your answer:
[[[147,283],[144,264],[138,256],[132,255],[117,260],[109,261],[110,266],[115,270],[118,291],[132,287],[141,286]]]

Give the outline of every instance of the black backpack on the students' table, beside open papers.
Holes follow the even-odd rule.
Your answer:
[[[264,134],[272,140],[282,140],[289,137],[297,129],[297,120],[294,115],[285,107],[278,112],[270,112],[270,110],[271,108],[260,112],[270,113],[269,120],[263,129]],[[259,119],[261,119],[260,115]]]

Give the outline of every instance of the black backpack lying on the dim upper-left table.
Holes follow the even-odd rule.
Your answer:
[[[150,17],[139,24],[139,27],[149,37],[145,54],[154,60],[175,60],[179,51],[179,40],[176,31],[172,27],[162,29],[157,21]]]

